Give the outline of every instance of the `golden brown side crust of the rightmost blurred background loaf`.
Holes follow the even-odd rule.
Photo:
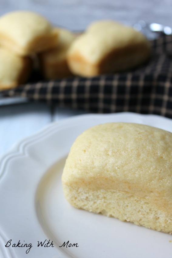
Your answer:
[[[137,53],[137,55],[136,55]],[[149,44],[140,43],[122,49],[114,49],[99,63],[89,63],[82,54],[74,52],[68,56],[70,70],[77,75],[96,76],[131,70],[144,64],[150,57]]]

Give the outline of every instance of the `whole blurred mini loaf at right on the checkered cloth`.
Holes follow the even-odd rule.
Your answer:
[[[68,52],[70,70],[81,76],[132,69],[148,60],[148,40],[138,31],[114,21],[99,21],[88,27]]]

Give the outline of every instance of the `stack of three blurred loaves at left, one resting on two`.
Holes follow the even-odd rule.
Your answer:
[[[0,89],[25,83],[37,56],[45,77],[56,79],[71,74],[65,58],[74,38],[72,32],[53,28],[44,17],[34,12],[16,11],[3,15],[0,18]]]

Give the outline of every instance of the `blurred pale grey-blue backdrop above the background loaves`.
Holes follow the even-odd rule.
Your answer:
[[[0,0],[0,4],[0,15],[28,9],[70,29],[83,29],[95,19],[106,18],[128,24],[141,19],[172,26],[171,0]]]

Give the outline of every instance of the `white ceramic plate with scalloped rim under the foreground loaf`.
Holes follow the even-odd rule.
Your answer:
[[[171,258],[171,235],[75,209],[63,196],[61,174],[73,141],[85,129],[112,121],[172,132],[172,120],[155,115],[81,115],[49,125],[2,158],[0,257]]]

